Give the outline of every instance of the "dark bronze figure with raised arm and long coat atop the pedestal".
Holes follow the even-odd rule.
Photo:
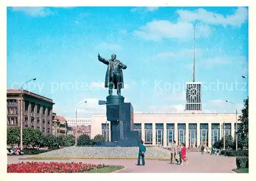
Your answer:
[[[108,65],[105,76],[105,87],[109,87],[109,94],[112,95],[114,88],[117,89],[117,95],[120,96],[121,88],[124,88],[122,69],[126,69],[127,66],[116,59],[116,54],[112,54],[109,60],[102,58],[98,54],[98,60]]]

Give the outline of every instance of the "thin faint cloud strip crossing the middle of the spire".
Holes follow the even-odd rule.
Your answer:
[[[193,57],[193,49],[184,49],[177,52],[160,52],[157,54],[159,58],[175,58],[175,57]],[[196,49],[197,57],[201,57],[203,55],[202,49]]]

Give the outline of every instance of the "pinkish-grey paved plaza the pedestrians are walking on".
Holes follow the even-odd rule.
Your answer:
[[[232,173],[236,168],[236,157],[202,155],[200,152],[187,153],[188,165],[170,164],[167,161],[146,160],[145,166],[137,166],[137,160],[27,160],[27,156],[8,156],[7,162],[82,162],[91,164],[122,165],[121,173]]]

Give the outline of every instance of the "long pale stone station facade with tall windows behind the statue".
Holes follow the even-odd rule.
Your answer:
[[[238,118],[240,115],[238,114]],[[103,134],[110,140],[110,131],[106,134],[102,124],[106,124],[105,115],[92,115],[91,136],[94,138],[96,134]],[[145,144],[167,147],[175,140],[178,144],[186,143],[186,147],[198,147],[201,144],[211,147],[213,142],[223,137],[224,129],[225,134],[231,134],[235,138],[236,114],[206,114],[201,111],[182,114],[134,114],[134,124],[136,128],[141,127],[141,139]]]

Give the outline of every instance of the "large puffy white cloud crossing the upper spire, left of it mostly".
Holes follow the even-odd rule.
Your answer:
[[[194,28],[190,22],[179,21],[174,24],[168,20],[153,20],[135,30],[133,34],[146,40],[161,40],[162,38],[187,39],[194,36]],[[210,34],[211,28],[208,25],[199,25],[197,27],[196,36],[198,38],[208,37]]]

